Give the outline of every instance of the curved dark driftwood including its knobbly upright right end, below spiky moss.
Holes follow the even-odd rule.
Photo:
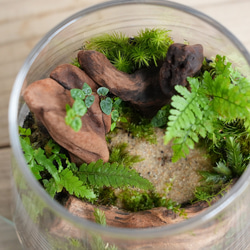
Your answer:
[[[117,70],[97,51],[82,50],[78,53],[81,68],[98,85],[129,101],[144,115],[152,117],[175,94],[175,85],[186,85],[184,78],[196,74],[203,62],[201,45],[173,44],[166,61],[160,68],[147,68],[127,74]],[[179,76],[183,75],[183,76]]]

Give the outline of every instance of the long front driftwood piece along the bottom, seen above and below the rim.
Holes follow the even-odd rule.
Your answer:
[[[237,180],[228,186],[227,191],[235,184]],[[224,192],[224,193],[225,193]],[[223,194],[224,194],[223,193]],[[223,195],[222,194],[222,195]],[[221,195],[216,196],[211,205],[218,201]],[[79,216],[84,219],[94,221],[94,208],[96,206],[80,201],[79,199],[71,196],[65,204],[65,207],[73,215]],[[125,212],[116,207],[104,207],[99,206],[98,208],[104,211],[107,221],[107,226],[113,227],[123,227],[133,229],[144,229],[149,227],[164,227],[171,224],[175,224],[187,219],[190,219],[201,212],[205,211],[209,207],[207,202],[197,202],[193,205],[185,207],[185,212],[187,218],[180,217],[176,215],[171,210],[166,208],[154,208],[142,212]],[[243,208],[247,210],[247,207]],[[235,225],[242,211],[236,211],[234,216],[221,217],[220,224],[209,224],[206,227],[193,229],[191,232],[182,233],[181,235],[175,235],[170,237],[163,237],[157,239],[144,239],[144,240],[119,240],[112,238],[112,236],[103,237],[105,242],[110,245],[114,244],[118,249],[131,249],[131,250],[141,250],[141,249],[178,249],[178,250],[192,250],[192,249],[203,249],[204,246],[212,246],[213,242],[223,242],[224,237],[227,232]],[[65,220],[57,219],[51,225],[50,232],[57,237],[64,238],[65,235],[68,237],[74,237],[81,239],[82,231],[77,229],[77,227],[72,227]],[[136,230],[134,231],[136,234]],[[86,236],[85,236],[86,237]],[[94,238],[93,238],[94,240]],[[91,242],[91,235],[89,235],[89,241]]]

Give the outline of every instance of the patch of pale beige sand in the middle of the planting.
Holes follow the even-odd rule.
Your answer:
[[[164,193],[166,198],[185,203],[194,198],[194,190],[200,185],[201,176],[198,171],[212,169],[211,162],[205,150],[194,149],[186,158],[173,163],[171,143],[164,145],[164,134],[165,130],[157,128],[157,144],[150,144],[145,140],[132,138],[121,130],[112,137],[109,146],[127,143],[131,154],[140,155],[144,159],[135,164],[134,168],[149,179],[158,192]]]

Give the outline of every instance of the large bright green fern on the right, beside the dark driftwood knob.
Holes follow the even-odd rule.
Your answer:
[[[217,122],[238,118],[250,128],[250,82],[239,76],[225,57],[217,56],[213,70],[187,78],[191,91],[176,86],[172,97],[165,143],[173,140],[173,161],[185,157],[199,138],[212,138]],[[233,81],[232,81],[233,79]]]

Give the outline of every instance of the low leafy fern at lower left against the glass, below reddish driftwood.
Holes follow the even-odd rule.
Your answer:
[[[92,189],[87,188],[83,185],[83,182],[79,180],[77,176],[69,169],[72,165],[66,155],[60,153],[60,147],[53,143],[51,140],[45,146],[47,152],[43,149],[34,149],[31,146],[30,140],[26,137],[20,137],[24,156],[27,161],[29,168],[36,177],[37,180],[42,180],[45,190],[54,197],[56,193],[61,192],[65,188],[69,194],[74,194],[78,198],[94,199],[95,194]],[[49,156],[46,156],[46,153]],[[66,168],[63,169],[62,160],[66,164]],[[57,165],[55,165],[57,162]],[[49,176],[42,178],[42,176]]]

